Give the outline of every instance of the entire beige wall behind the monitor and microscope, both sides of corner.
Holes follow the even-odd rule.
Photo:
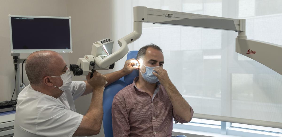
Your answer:
[[[76,64],[78,58],[91,53],[92,43],[103,38],[112,38],[112,1],[74,0],[1,0],[0,1],[0,101],[10,100],[14,90],[15,70],[10,55],[10,29],[8,14],[32,16],[71,16],[73,53],[61,54],[67,65]],[[21,54],[27,58],[29,54]],[[20,69],[21,64],[18,65]],[[24,65],[25,68],[25,65]],[[29,81],[24,71],[24,81]],[[103,71],[101,73],[107,73]],[[19,74],[17,74],[19,75]],[[73,77],[73,81],[85,80],[85,76]],[[17,90],[17,89],[16,89]],[[21,90],[21,89],[20,89]],[[15,99],[15,96],[14,96]],[[85,114],[89,108],[91,95],[78,99],[76,109]],[[103,130],[97,136],[104,136]]]

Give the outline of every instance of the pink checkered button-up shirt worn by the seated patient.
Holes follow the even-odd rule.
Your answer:
[[[113,135],[114,137],[170,137],[175,123],[185,121],[173,110],[168,94],[160,83],[151,96],[142,89],[137,89],[135,82],[120,90],[112,105]]]

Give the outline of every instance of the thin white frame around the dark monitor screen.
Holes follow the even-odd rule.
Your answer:
[[[13,49],[11,17],[19,17],[19,18],[69,19],[69,26],[70,26],[70,49]],[[19,16],[19,15],[9,15],[11,53],[32,53],[32,52],[35,52],[35,51],[43,51],[43,50],[56,51],[56,52],[59,52],[59,53],[65,53],[65,52],[70,52],[70,53],[72,53],[72,39],[71,39],[71,23],[70,23],[70,20],[71,20],[71,17],[49,17],[49,16]]]

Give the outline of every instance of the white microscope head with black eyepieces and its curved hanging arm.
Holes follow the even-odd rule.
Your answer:
[[[139,8],[135,7],[133,14],[134,17],[141,18],[141,21],[134,20],[133,31],[118,40],[118,45],[120,45],[120,48],[112,53],[113,41],[109,38],[95,42],[92,45],[91,55],[85,55],[84,58],[78,59],[76,65],[70,65],[70,71],[74,72],[74,76],[87,75],[89,71],[93,72],[94,70],[112,69],[114,67],[114,63],[127,54],[129,50],[127,45],[140,38],[142,34],[144,13],[143,15],[141,14],[141,16],[138,15],[140,14],[140,10],[138,9]]]

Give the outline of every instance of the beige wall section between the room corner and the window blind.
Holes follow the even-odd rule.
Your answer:
[[[67,1],[67,15],[72,17],[72,47],[69,63],[76,64],[78,58],[91,54],[92,44],[104,38],[113,38],[112,33],[112,1],[85,0]],[[113,39],[112,39],[113,40]],[[109,71],[100,71],[109,73]],[[75,76],[73,81],[86,80],[85,76]],[[85,114],[89,108],[92,94],[85,95],[75,101],[78,113]],[[103,125],[97,137],[104,136]]]

